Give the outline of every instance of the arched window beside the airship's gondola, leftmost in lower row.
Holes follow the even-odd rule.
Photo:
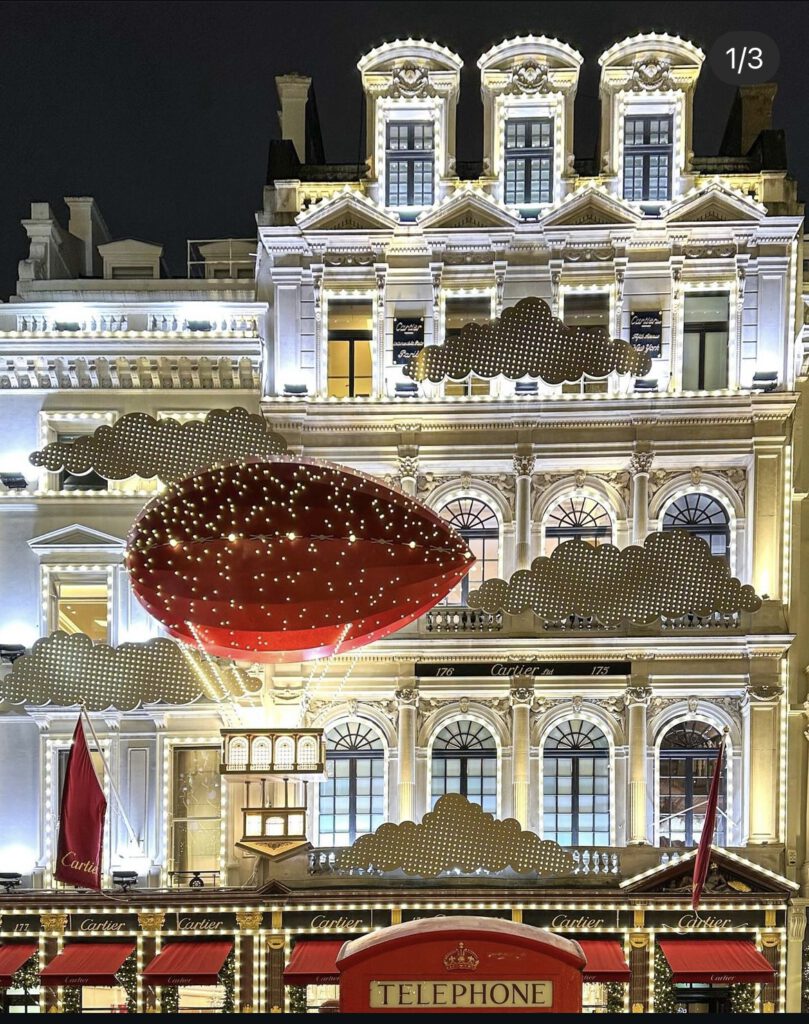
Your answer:
[[[346,722],[326,733],[328,777],[321,782],[322,846],[350,846],[384,821],[385,760],[382,741],[365,722]]]

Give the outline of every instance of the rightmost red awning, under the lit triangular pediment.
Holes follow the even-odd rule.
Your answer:
[[[675,983],[764,984],[775,975],[775,968],[744,939],[661,939],[659,945]]]

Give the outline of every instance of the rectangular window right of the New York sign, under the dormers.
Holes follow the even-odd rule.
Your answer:
[[[701,292],[685,296],[685,391],[716,391],[727,387],[729,299],[727,292]]]

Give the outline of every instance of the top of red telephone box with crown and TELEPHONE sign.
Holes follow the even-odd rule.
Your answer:
[[[341,1013],[581,1013],[578,942],[492,918],[431,918],[346,942]]]

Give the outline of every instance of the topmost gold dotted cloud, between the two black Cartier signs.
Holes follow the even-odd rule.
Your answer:
[[[463,380],[469,374],[509,380],[541,377],[547,384],[610,373],[642,377],[651,370],[651,358],[626,341],[610,340],[602,331],[567,328],[547,302],[521,299],[499,319],[467,324],[460,335],[443,345],[427,345],[404,368],[417,381],[437,383],[449,377]]]

